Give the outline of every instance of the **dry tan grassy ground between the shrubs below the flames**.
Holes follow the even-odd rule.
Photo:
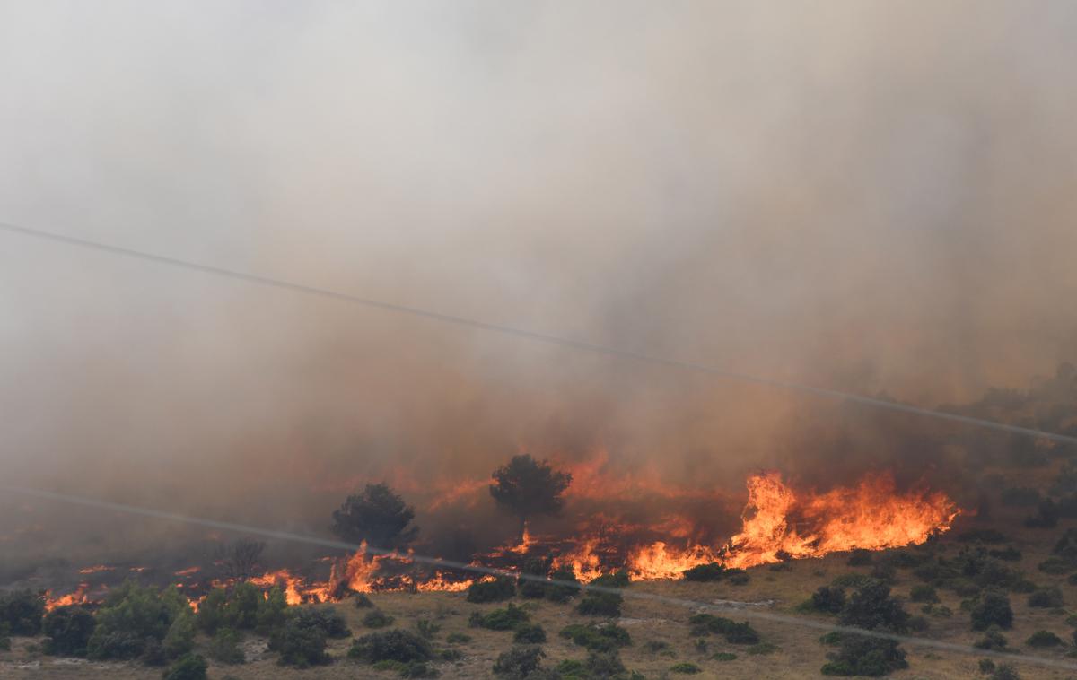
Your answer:
[[[1015,510],[1015,518],[1023,511]],[[1071,611],[1077,611],[1077,585],[1069,585],[1065,576],[1051,576],[1037,569],[1037,565],[1049,556],[1050,547],[1055,538],[1067,527],[1077,526],[1077,521],[1063,521],[1058,527],[1050,529],[1025,529],[1016,521],[998,519],[993,523],[1008,525],[1006,530],[1008,544],[1020,549],[1023,553],[1019,563],[1013,563],[1022,569],[1026,578],[1037,585],[1058,585],[1065,597],[1065,607],[1060,610],[1037,609],[1027,606],[1027,595],[1013,593],[1010,600],[1015,610],[1015,626],[1006,633],[1011,648],[1063,663],[1077,666],[1077,658],[1067,656],[1068,647],[1054,650],[1033,650],[1024,644],[1024,640],[1037,629],[1048,629],[1060,637],[1071,639],[1071,626],[1066,619]],[[937,541],[936,554],[953,556],[965,547],[955,536],[947,536]],[[905,549],[915,551],[918,549]],[[708,649],[701,652],[696,649],[696,638],[689,636],[688,618],[691,609],[646,599],[626,597],[623,617],[619,624],[632,636],[633,644],[621,651],[625,665],[631,670],[638,670],[647,678],[805,678],[821,677],[820,667],[826,662],[827,649],[819,642],[821,632],[815,628],[789,625],[766,620],[758,620],[751,611],[778,612],[802,617],[821,623],[833,621],[831,618],[819,614],[799,613],[797,605],[805,600],[820,585],[829,583],[835,577],[843,573],[868,573],[870,566],[851,567],[847,565],[848,555],[830,555],[822,559],[799,561],[786,565],[781,570],[772,567],[751,569],[751,581],[744,585],[728,582],[688,583],[688,582],[652,582],[634,583],[630,590],[645,593],[657,593],[680,598],[690,598],[700,601],[735,600],[753,603],[743,607],[743,614],[729,614],[736,619],[749,619],[752,625],[763,635],[764,641],[777,646],[770,653],[753,654],[746,647],[728,644],[719,637],[710,637]],[[909,591],[921,583],[909,569],[899,569],[893,585],[893,592],[908,600]],[[939,590],[942,605],[948,607],[951,615],[929,615],[929,628],[919,635],[933,640],[971,644],[980,634],[969,629],[969,619],[961,610],[962,597],[952,592]],[[394,626],[414,628],[416,621],[422,618],[434,619],[440,631],[436,635],[435,646],[438,648],[453,647],[463,654],[459,662],[443,662],[437,665],[443,678],[488,678],[492,677],[491,667],[498,654],[512,644],[512,633],[493,632],[473,628],[467,625],[468,615],[475,610],[491,610],[502,607],[501,604],[472,605],[465,600],[463,593],[418,593],[403,592],[382,593],[372,596],[375,605],[395,618]],[[545,664],[554,666],[568,658],[583,660],[586,652],[574,647],[557,633],[570,623],[592,620],[576,613],[571,604],[557,605],[549,601],[533,603],[518,600],[531,610],[532,619],[541,623],[549,636],[544,646],[547,653]],[[368,609],[358,609],[352,603],[337,605],[316,605],[318,607],[336,607],[344,613],[350,624],[353,635],[362,635],[365,631],[362,617]],[[906,601],[911,613],[920,613],[920,605]],[[721,612],[716,612],[721,613]],[[447,644],[445,638],[450,633],[464,633],[472,640],[461,644]],[[11,652],[0,653],[0,677],[12,679],[36,678],[159,678],[160,669],[148,668],[137,663],[95,663],[83,660],[53,658],[40,654],[37,646],[41,639],[14,638]],[[200,639],[200,643],[205,643]],[[652,641],[666,642],[669,650],[662,653],[648,651],[646,643]],[[396,678],[394,671],[378,671],[369,666],[358,664],[347,658],[349,639],[331,642],[331,653],[335,662],[328,666],[307,670],[296,670],[277,665],[274,654],[265,651],[265,640],[251,636],[247,639],[246,649],[249,662],[243,665],[224,666],[212,663],[210,677],[223,679],[226,676],[242,679],[254,678]],[[939,651],[906,643],[910,667],[907,670],[893,674],[892,678],[974,678],[983,677],[979,672],[979,655],[969,655],[950,651]],[[721,651],[737,654],[735,661],[718,662],[711,656]],[[680,676],[670,672],[671,666],[679,662],[693,662],[699,665],[703,672],[695,676]],[[1077,670],[1046,668],[1025,663],[1015,664],[1022,678],[1077,678]]]

